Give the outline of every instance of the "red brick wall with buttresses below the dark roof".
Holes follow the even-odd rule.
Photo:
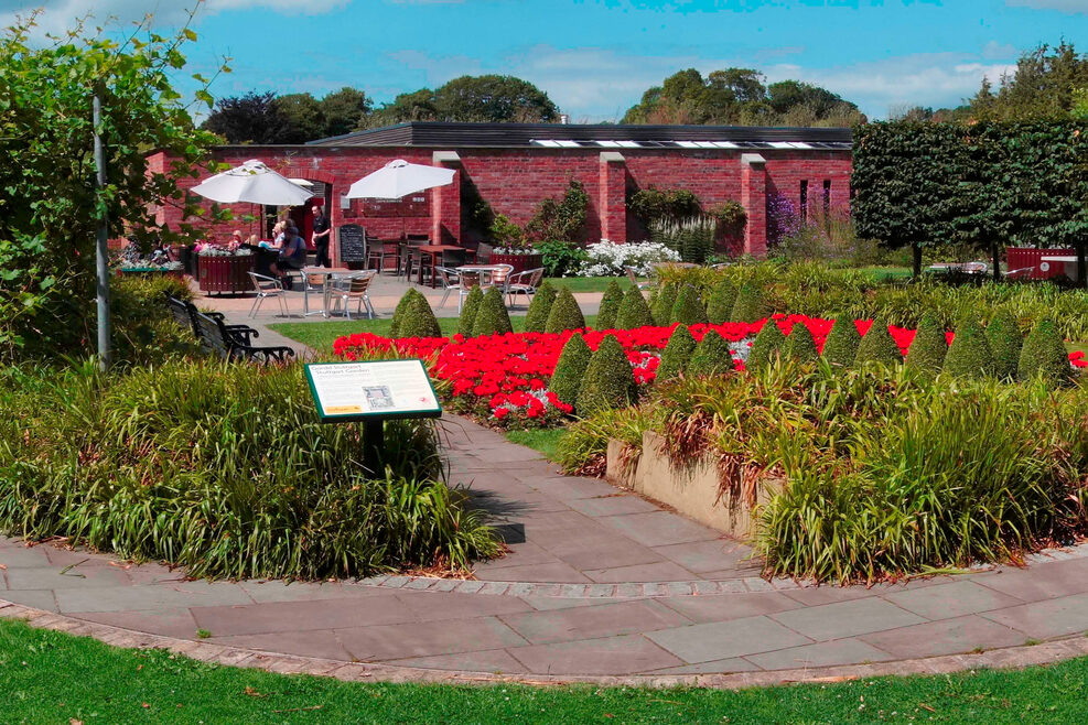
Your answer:
[[[453,190],[432,191],[430,215],[400,217],[364,216],[362,204],[353,202],[341,208],[341,196],[348,186],[394,159],[410,163],[434,162],[433,149],[364,148],[364,147],[251,147],[222,148],[216,159],[237,165],[248,159],[260,159],[286,176],[320,181],[328,185],[327,207],[334,227],[341,224],[362,225],[367,234],[378,238],[409,234],[438,235],[454,241],[462,234],[460,194]],[[624,192],[631,186],[661,190],[686,188],[694,193],[703,207],[719,202],[739,201],[745,204],[753,219],[745,234],[744,247],[752,253],[765,250],[766,231],[758,209],[764,208],[765,194],[780,193],[795,207],[800,206],[800,182],[808,181],[809,208],[822,208],[823,182],[829,180],[830,205],[848,209],[850,199],[851,154],[839,151],[765,150],[765,186],[751,184],[741,163],[741,152],[729,150],[620,149],[623,161],[602,161],[596,149],[457,149],[460,163],[452,164],[466,175],[491,204],[495,214],[505,214],[518,224],[528,221],[541,201],[557,198],[571,178],[580,181],[590,196],[585,239],[595,241],[606,236],[613,241],[639,241],[645,231],[627,214]],[[169,163],[162,154],[150,160],[152,167]],[[442,162],[446,163],[446,162]],[[184,178],[190,188],[202,180]],[[236,216],[254,213],[249,204],[235,205]],[[164,224],[180,221],[181,210],[173,206],[159,209]],[[258,232],[256,224],[233,221],[208,225],[213,238],[226,240],[230,231],[241,228],[247,235]],[[604,232],[607,232],[606,235]],[[334,234],[335,239],[335,234]]]

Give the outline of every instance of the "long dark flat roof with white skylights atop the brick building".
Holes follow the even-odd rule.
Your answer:
[[[410,121],[319,139],[306,145],[847,151],[853,145],[853,131],[849,128],[772,128],[761,126]]]

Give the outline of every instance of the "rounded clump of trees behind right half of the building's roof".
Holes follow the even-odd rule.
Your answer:
[[[705,78],[688,68],[647,89],[622,122],[845,127],[864,120],[857,105],[807,83],[767,86],[752,68],[714,71]]]

